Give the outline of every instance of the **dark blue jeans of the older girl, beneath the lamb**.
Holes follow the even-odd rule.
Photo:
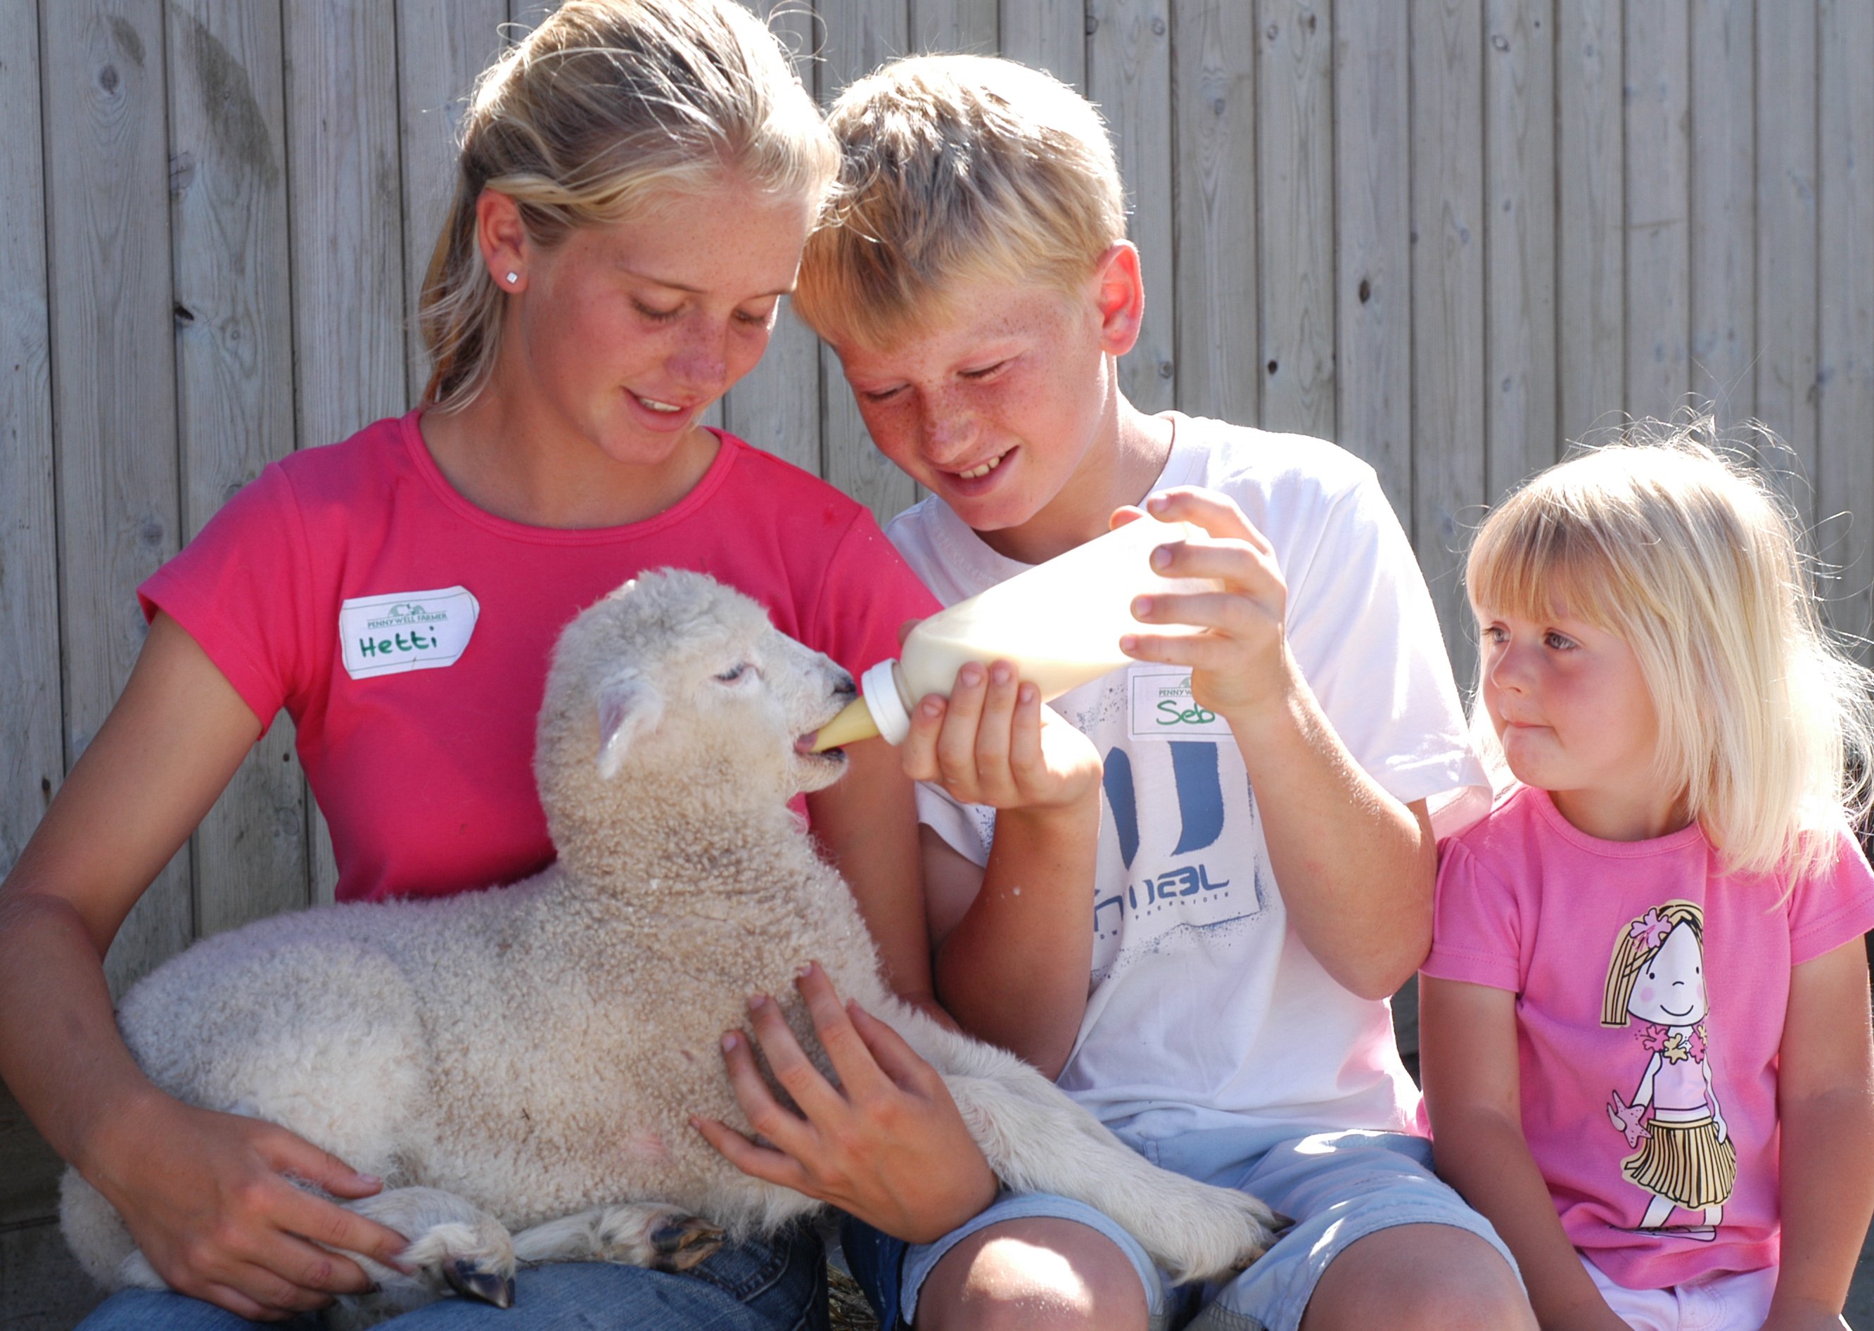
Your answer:
[[[157,1290],[124,1290],[81,1331],[249,1331],[317,1327],[317,1318],[247,1322],[212,1303]],[[684,1275],[603,1262],[523,1267],[513,1309],[437,1299],[380,1324],[395,1331],[826,1331],[826,1264],[819,1232],[783,1230],[766,1241],[721,1249]]]

